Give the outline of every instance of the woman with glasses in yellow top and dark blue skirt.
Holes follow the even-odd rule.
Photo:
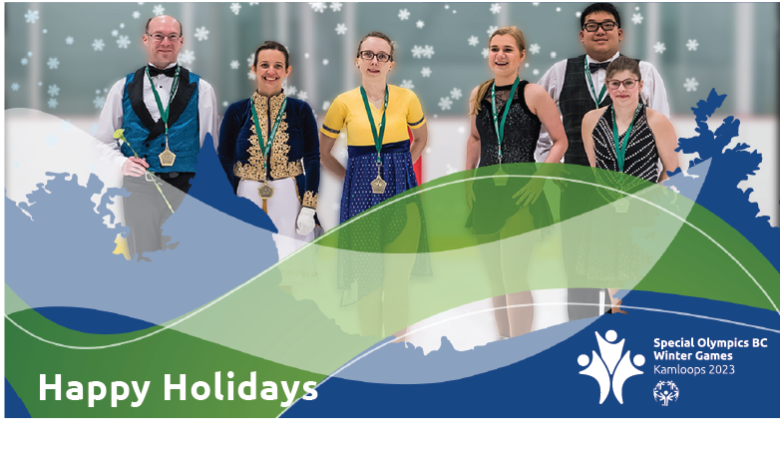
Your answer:
[[[387,75],[395,66],[393,52],[392,41],[382,33],[363,38],[355,59],[363,83],[336,98],[320,130],[322,165],[344,179],[342,224],[417,187],[414,162],[425,149],[428,127],[417,96],[387,84]],[[412,129],[414,146],[407,126]],[[344,128],[349,145],[346,169],[331,154]],[[367,217],[365,228],[360,224],[359,229],[339,236],[340,250],[375,254],[341,254],[338,275],[343,290],[357,282],[364,334],[382,338],[383,319],[387,333],[407,327],[410,275],[430,275],[430,263],[425,255],[408,254],[428,248],[419,197],[391,203],[380,213]],[[384,259],[378,253],[385,253]],[[390,304],[382,304],[383,294]]]

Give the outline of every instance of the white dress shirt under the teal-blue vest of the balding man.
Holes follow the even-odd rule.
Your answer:
[[[172,63],[168,68],[173,68],[176,63]],[[122,129],[122,123],[124,119],[124,110],[122,109],[122,98],[125,94],[125,84],[127,78],[124,78],[114,84],[111,91],[106,97],[106,105],[103,107],[103,112],[100,114],[100,121],[98,122],[97,134],[95,137],[106,145],[101,154],[101,160],[107,160],[115,163],[120,169],[127,162],[127,157],[122,153],[119,146],[119,141],[114,139],[114,132],[117,129]],[[154,99],[154,93],[152,92],[152,86],[149,83],[149,78],[144,76],[144,104],[149,109],[149,113],[152,116],[152,120],[155,122],[161,118],[160,109],[157,108],[157,101]],[[157,93],[160,95],[160,101],[163,106],[168,105],[168,100],[171,96],[171,87],[173,86],[173,78],[164,74],[152,77],[152,81],[157,88]],[[214,140],[214,148],[217,147],[217,133],[219,128],[218,112],[217,112],[217,97],[214,94],[214,88],[211,84],[203,79],[200,79],[199,93],[198,93],[198,120],[200,122],[200,146],[203,148],[203,143],[206,141],[206,134],[211,134],[212,140]],[[169,125],[170,126],[170,125]],[[133,144],[134,145],[134,144]],[[134,145],[138,147],[139,145]]]

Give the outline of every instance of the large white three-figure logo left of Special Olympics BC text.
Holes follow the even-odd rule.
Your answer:
[[[632,364],[631,351],[628,351],[621,359],[623,346],[626,341],[622,340],[620,343],[616,343],[617,333],[614,331],[609,331],[607,333],[606,340],[604,340],[599,333],[596,333],[596,340],[598,341],[601,356],[595,351],[593,352],[592,359],[588,358],[588,355],[580,356],[577,359],[577,362],[580,366],[587,367],[587,369],[580,372],[580,374],[593,377],[599,383],[599,388],[601,389],[599,405],[607,400],[610,389],[615,394],[615,398],[622,405],[623,385],[629,378],[644,373],[634,367],[634,364],[636,364],[637,367],[644,366],[645,357],[636,355]]]

